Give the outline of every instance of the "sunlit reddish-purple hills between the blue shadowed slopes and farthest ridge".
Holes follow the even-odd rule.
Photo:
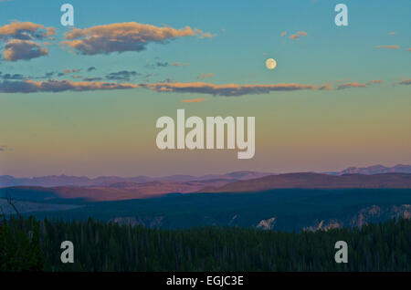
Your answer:
[[[169,193],[264,192],[274,189],[411,189],[410,173],[330,175],[312,172],[268,175],[250,180],[123,181],[109,186],[14,186],[0,188],[0,198],[16,200],[85,202],[146,199]]]

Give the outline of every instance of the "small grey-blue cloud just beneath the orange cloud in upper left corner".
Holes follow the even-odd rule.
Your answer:
[[[5,60],[32,59],[47,56],[47,48],[31,40],[12,39],[5,44]]]

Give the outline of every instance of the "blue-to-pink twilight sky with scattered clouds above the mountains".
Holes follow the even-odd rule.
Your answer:
[[[410,164],[411,2],[343,1],[348,26],[338,3],[0,1],[0,174]],[[254,158],[159,150],[155,122],[177,109],[255,117]]]

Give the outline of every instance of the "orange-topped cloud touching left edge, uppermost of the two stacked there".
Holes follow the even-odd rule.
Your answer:
[[[53,27],[46,27],[32,22],[13,22],[0,26],[0,39],[34,40],[44,39],[56,34]]]

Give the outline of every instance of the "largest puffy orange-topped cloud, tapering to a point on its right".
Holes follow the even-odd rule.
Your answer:
[[[212,37],[202,30],[186,26],[175,29],[170,26],[152,26],[136,22],[115,23],[90,28],[74,28],[66,35],[66,45],[81,55],[110,54],[112,52],[142,51],[150,43],[167,43],[178,37]]]

